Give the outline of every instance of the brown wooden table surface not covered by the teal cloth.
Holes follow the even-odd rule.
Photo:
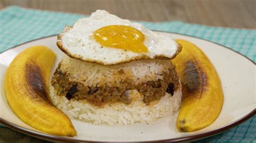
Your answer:
[[[105,9],[126,19],[181,22],[211,26],[256,28],[256,0],[0,0],[8,5],[90,15]],[[9,128],[0,128],[0,142],[47,142]]]

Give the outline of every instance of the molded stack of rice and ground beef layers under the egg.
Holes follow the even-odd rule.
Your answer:
[[[150,123],[179,109],[181,85],[175,75],[170,60],[104,66],[64,56],[52,78],[51,98],[70,118],[93,124]],[[170,86],[165,82],[174,84],[170,94],[165,92]],[[143,88],[165,90],[145,99],[154,92]]]

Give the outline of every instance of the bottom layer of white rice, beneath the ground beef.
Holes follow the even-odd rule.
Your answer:
[[[134,97],[131,104],[121,102],[106,104],[104,108],[94,106],[89,102],[68,100],[65,96],[57,96],[53,87],[50,87],[50,97],[53,104],[62,110],[70,119],[78,119],[94,125],[128,125],[134,123],[151,123],[152,121],[171,116],[179,110],[181,103],[181,88],[171,96],[166,95],[159,101],[146,105],[143,96],[137,90],[129,91]]]

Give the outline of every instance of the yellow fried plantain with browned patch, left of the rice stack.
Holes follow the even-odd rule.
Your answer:
[[[4,78],[7,101],[26,124],[46,133],[76,135],[70,119],[49,100],[49,77],[56,55],[49,48],[25,49],[11,62]]]

